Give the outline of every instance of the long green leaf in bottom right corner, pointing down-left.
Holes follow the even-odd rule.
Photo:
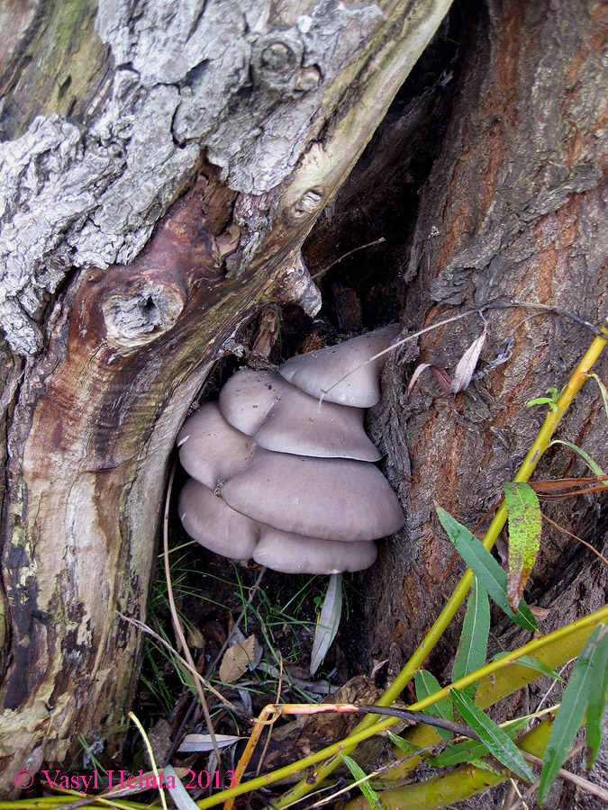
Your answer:
[[[591,662],[597,650],[595,643],[601,630],[601,627],[596,627],[594,633],[589,637],[583,652],[578,656],[570,680],[564,690],[564,695],[561,698],[558,715],[549,735],[549,743],[547,743],[544,764],[540,773],[540,805],[547,798],[553,779],[556,778],[558,770],[564,764],[567,753],[572,743],[574,743],[576,733],[583,722],[589,700]]]

